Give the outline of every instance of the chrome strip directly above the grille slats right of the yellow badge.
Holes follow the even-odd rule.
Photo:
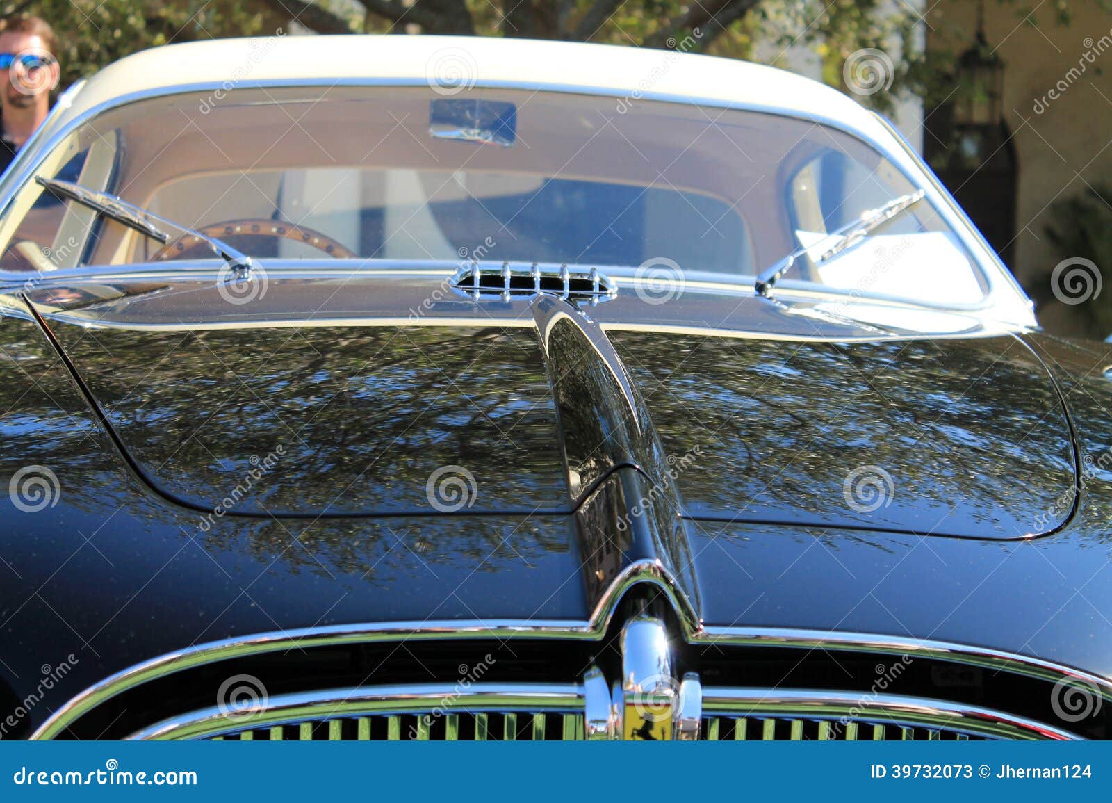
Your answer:
[[[1022,716],[976,705],[898,694],[704,687],[703,715],[876,721],[994,738],[1080,740],[1068,731]]]

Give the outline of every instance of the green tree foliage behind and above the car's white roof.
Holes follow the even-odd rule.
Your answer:
[[[1035,23],[1022,0],[986,2],[1013,7],[1019,18]],[[922,52],[919,12],[891,0],[0,0],[0,13],[12,11],[54,26],[63,87],[137,50],[274,33],[290,28],[296,17],[299,26],[320,33],[419,30],[654,48],[684,43],[678,49],[780,66],[788,48],[811,48],[822,59],[823,79],[842,89],[846,59],[870,48],[891,59],[892,80],[887,91],[856,96],[862,102],[886,111],[906,90],[932,106],[953,90],[953,54]],[[1064,23],[1069,14],[1069,2],[1052,0],[1042,17]]]

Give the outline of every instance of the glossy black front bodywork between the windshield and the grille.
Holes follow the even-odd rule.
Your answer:
[[[636,304],[620,301],[589,314],[606,326],[637,404],[582,424],[566,415],[577,398],[579,409],[615,405],[599,356],[574,333],[542,348],[523,326],[527,304],[473,309],[481,327],[187,333],[48,317],[158,489],[117,454],[37,325],[4,318],[0,479],[46,466],[59,494],[34,513],[0,496],[0,676],[19,697],[44,664],[79,658],[29,723],[112,672],[231,635],[403,619],[585,622],[618,573],[645,559],[675,576],[706,624],[952,641],[1112,676],[1112,470],[1091,473],[1074,512],[1070,425],[1043,365],[1100,467],[1112,446],[1103,349],[1039,336],[827,343],[737,338],[729,327],[718,338],[633,331]],[[794,325],[782,316],[772,328]],[[440,370],[421,354],[433,346]],[[585,374],[573,356],[588,360]],[[560,377],[574,379],[565,395]],[[423,409],[434,399],[434,412]],[[586,432],[598,422],[623,430],[624,450]],[[250,455],[286,436],[300,450],[280,464],[280,482],[206,518]],[[573,510],[568,445],[587,465],[593,437],[605,454]],[[696,444],[706,446],[681,463]],[[878,515],[843,507],[844,476],[863,464],[893,477]],[[474,473],[474,507],[423,508],[427,476],[443,465]],[[341,512],[375,516],[316,515],[340,477],[353,488],[339,495]],[[746,521],[728,521],[749,497]],[[941,519],[944,502],[953,510]],[[279,508],[304,515],[266,515]],[[932,528],[962,537],[914,534]],[[1036,531],[1053,532],[1013,539]]]

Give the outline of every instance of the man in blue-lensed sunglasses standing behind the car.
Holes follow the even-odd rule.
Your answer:
[[[0,171],[50,111],[61,69],[53,29],[38,17],[0,20]]]

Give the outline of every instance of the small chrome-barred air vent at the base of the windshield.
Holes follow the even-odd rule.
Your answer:
[[[614,298],[617,288],[597,268],[572,270],[566,265],[543,266],[538,262],[525,267],[512,267],[471,262],[451,277],[451,288],[473,300],[500,298],[508,301],[513,297],[558,296],[568,301],[587,301],[592,305]]]

